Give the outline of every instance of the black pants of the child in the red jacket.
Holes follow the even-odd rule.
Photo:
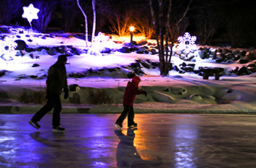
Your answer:
[[[135,112],[133,110],[133,106],[129,106],[129,105],[124,105],[124,111],[121,112],[121,115],[118,117],[118,119],[116,120],[116,123],[121,124],[123,123],[124,119],[127,117],[128,115],[128,126],[132,126],[135,122],[133,121],[133,119],[135,118]]]

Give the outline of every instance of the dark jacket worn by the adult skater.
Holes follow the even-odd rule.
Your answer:
[[[61,94],[63,88],[67,89],[67,71],[65,65],[57,61],[48,70],[46,91]]]

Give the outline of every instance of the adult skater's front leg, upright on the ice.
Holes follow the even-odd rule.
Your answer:
[[[61,125],[61,98],[59,94],[53,94],[52,99],[53,104],[53,126],[60,126]]]

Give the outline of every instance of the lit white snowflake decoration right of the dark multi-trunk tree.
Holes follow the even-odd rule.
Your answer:
[[[195,50],[196,40],[197,40],[197,37],[190,36],[189,32],[186,32],[183,37],[178,37],[178,42],[179,42],[178,49],[185,50],[187,52],[189,52],[190,50]]]

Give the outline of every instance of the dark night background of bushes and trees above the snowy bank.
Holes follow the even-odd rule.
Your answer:
[[[167,10],[169,2],[170,0],[163,0],[164,10]],[[183,14],[189,0],[171,2],[170,27]],[[32,21],[32,26],[37,31],[84,33],[84,18],[77,0],[0,0],[0,24],[29,27],[29,22],[21,15],[22,7],[28,7],[31,3],[40,9],[39,20]],[[197,43],[202,45],[230,42],[233,47],[255,47],[255,4],[255,0],[193,0],[187,15],[178,26],[178,35],[189,31],[197,36]],[[91,32],[91,0],[80,0],[80,5],[86,12]],[[153,6],[157,12],[159,0],[154,0]],[[97,32],[121,36],[132,25],[137,32],[154,38],[148,0],[96,0],[96,9]]]

